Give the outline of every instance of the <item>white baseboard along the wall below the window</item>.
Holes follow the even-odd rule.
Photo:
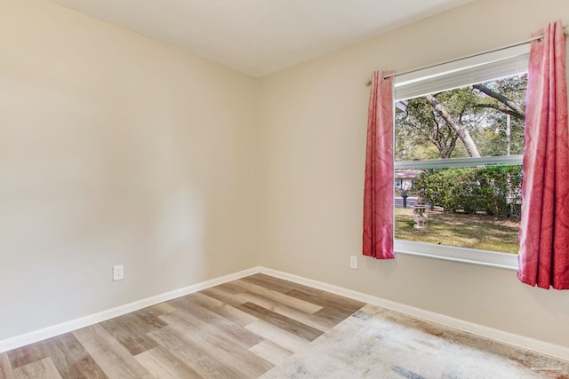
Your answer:
[[[260,273],[265,273],[279,279],[293,281],[298,284],[303,284],[312,288],[322,289],[326,292],[331,292],[336,295],[345,296],[363,303],[374,304],[387,308],[392,311],[404,313],[415,319],[434,322],[445,327],[456,328],[465,332],[472,333],[477,336],[492,339],[499,343],[507,343],[517,348],[536,351],[541,354],[549,355],[552,358],[566,360],[569,357],[569,348],[555,343],[546,343],[526,336],[519,336],[514,333],[509,333],[500,329],[485,327],[484,325],[475,324],[473,322],[455,319],[444,314],[426,311],[420,308],[415,308],[410,305],[392,302],[390,300],[382,299],[381,297],[366,295],[351,289],[333,286],[322,281],[311,280],[301,276],[293,275],[287,272],[280,272],[265,267],[260,267]]]

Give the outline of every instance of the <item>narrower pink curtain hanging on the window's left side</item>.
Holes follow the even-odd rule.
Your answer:
[[[372,77],[364,188],[365,256],[393,259],[393,76]]]

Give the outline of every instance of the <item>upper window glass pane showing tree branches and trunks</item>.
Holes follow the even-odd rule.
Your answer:
[[[514,155],[524,151],[527,75],[396,103],[396,161]]]

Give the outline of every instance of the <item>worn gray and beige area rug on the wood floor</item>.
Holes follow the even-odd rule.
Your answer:
[[[263,379],[569,379],[569,362],[367,304]]]

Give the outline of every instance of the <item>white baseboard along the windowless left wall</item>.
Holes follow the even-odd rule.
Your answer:
[[[11,338],[0,340],[0,353],[12,349],[17,349],[29,343],[36,343],[39,341],[43,341],[44,339],[47,338],[60,336],[65,333],[72,332],[73,330],[76,329],[85,328],[90,325],[112,319],[114,317],[122,316],[126,313],[135,312],[151,305],[172,300],[176,297],[193,294],[194,292],[201,291],[205,288],[218,286],[228,281],[241,279],[244,278],[245,276],[249,276],[258,272],[260,272],[260,267],[253,267],[244,271],[221,276],[220,278],[205,280],[185,288],[175,289],[171,292],[166,292],[164,294],[151,296],[146,299],[138,300],[129,304],[120,305],[117,306],[116,308],[111,308],[106,311],[90,314],[80,319],[69,320],[57,325],[53,325],[51,327],[35,330],[33,332],[29,332],[24,335],[13,336]]]

